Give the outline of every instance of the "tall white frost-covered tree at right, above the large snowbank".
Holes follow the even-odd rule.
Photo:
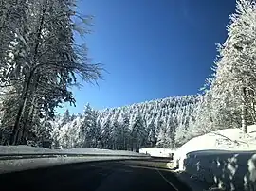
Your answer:
[[[251,0],[237,0],[236,12],[230,16],[228,38],[218,45],[218,60],[210,84],[215,115],[229,126],[237,121],[237,114],[247,132],[247,120],[255,123],[255,57],[256,5]],[[226,116],[226,117],[225,117]],[[239,124],[237,124],[239,126]]]

